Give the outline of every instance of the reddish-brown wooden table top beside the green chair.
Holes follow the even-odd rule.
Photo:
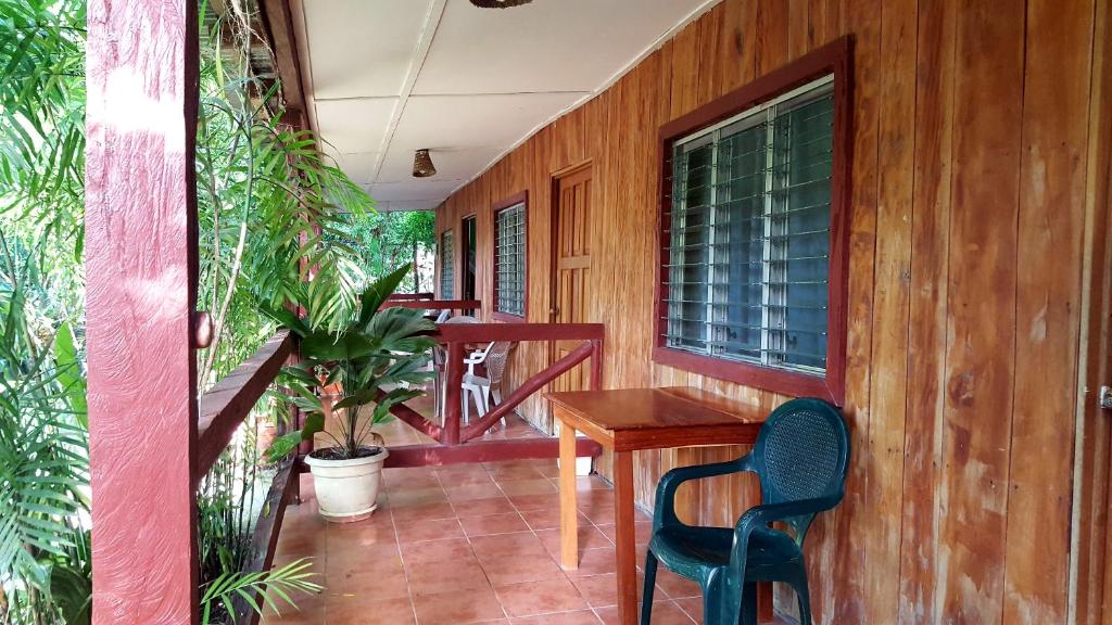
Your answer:
[[[694,387],[547,393],[558,419],[616,450],[752,444],[767,414]]]

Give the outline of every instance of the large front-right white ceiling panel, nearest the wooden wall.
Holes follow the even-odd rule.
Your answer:
[[[594,91],[706,0],[448,0],[414,93]]]

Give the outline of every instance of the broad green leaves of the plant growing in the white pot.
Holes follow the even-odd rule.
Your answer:
[[[368,437],[378,436],[373,428],[390,418],[391,406],[424,394],[410,386],[429,379],[426,354],[435,344],[428,337],[435,326],[420,310],[381,308],[408,271],[409,267],[404,266],[373,284],[339,330],[290,327],[301,336],[301,361],[282,369],[281,383],[292,393],[278,397],[300,408],[306,421],[300,430],[275,440],[267,450],[271,460],[286,457],[302,440],[311,440],[321,431],[332,438],[335,452],[354,458]],[[272,314],[282,316],[277,310]],[[341,389],[332,406],[344,410],[337,419],[338,435],[325,429],[324,401],[314,391],[332,384]],[[375,404],[375,409],[369,418],[360,420],[363,407],[369,404]]]

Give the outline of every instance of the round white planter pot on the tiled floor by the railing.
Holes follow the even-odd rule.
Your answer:
[[[320,516],[332,523],[353,523],[369,517],[378,507],[383,462],[389,455],[384,448],[374,456],[350,460],[306,456],[305,464],[312,468]]]

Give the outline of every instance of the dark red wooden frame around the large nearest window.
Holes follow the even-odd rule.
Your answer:
[[[850,274],[850,167],[853,159],[852,41],[848,37],[828,43],[753,82],[731,91],[661,127],[659,188],[657,212],[659,245],[656,250],[656,315],[653,360],[717,379],[795,397],[820,397],[845,401],[846,295]],[[728,119],[823,76],[834,75],[834,155],[831,177],[831,268],[827,310],[826,370],[822,376],[727,360],[674,349],[665,340],[664,319],[668,289],[668,229],[672,214],[673,143],[693,132]]]

